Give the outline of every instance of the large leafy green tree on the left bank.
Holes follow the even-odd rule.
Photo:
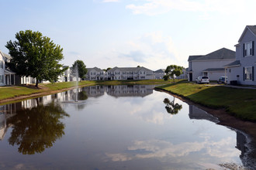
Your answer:
[[[32,30],[16,33],[16,41],[7,42],[6,48],[12,56],[9,68],[19,76],[36,78],[36,87],[39,81],[57,81],[65,69],[59,64],[64,59],[61,46],[54,44],[50,38],[41,32]]]

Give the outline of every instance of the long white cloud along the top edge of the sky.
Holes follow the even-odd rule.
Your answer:
[[[244,1],[234,0],[146,0],[142,5],[130,4],[126,8],[132,10],[133,14],[158,15],[171,10],[186,12],[221,12],[223,14],[233,14],[243,10]]]

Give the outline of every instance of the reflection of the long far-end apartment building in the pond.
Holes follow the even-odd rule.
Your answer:
[[[115,97],[145,97],[153,93],[154,85],[108,86],[106,93]]]

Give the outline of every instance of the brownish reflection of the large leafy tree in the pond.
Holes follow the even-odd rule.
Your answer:
[[[64,117],[69,115],[54,103],[20,110],[9,119],[13,124],[9,144],[18,145],[23,155],[41,153],[64,134],[64,124],[60,121]]]

